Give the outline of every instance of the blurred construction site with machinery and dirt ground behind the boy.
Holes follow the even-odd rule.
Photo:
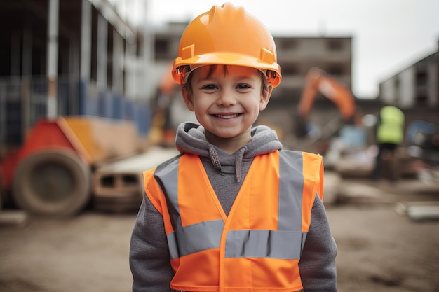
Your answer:
[[[133,27],[107,0],[3,1],[0,16],[0,291],[131,291],[142,172],[196,122],[170,74],[187,23]],[[257,124],[323,156],[339,291],[439,291],[439,43],[358,98],[351,36],[273,38],[283,84]],[[383,104],[405,138],[374,181]]]

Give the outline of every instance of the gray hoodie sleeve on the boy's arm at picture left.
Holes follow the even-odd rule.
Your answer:
[[[130,242],[133,292],[169,292],[173,270],[163,217],[144,195]]]

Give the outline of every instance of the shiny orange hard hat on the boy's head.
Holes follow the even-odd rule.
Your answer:
[[[222,64],[262,71],[275,88],[281,83],[276,44],[269,30],[241,6],[226,3],[198,15],[182,34],[173,78],[179,84],[191,70]]]

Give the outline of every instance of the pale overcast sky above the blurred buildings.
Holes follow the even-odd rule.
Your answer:
[[[224,1],[112,0],[133,21],[187,21]],[[375,97],[378,84],[438,50],[438,0],[234,0],[275,36],[352,36],[353,93]],[[146,15],[142,9],[147,7]],[[146,16],[146,18],[145,18]]]

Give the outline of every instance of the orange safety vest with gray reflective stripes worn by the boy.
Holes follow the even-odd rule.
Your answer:
[[[258,155],[226,216],[197,155],[143,173],[162,214],[177,291],[298,291],[299,259],[316,194],[323,199],[320,155]]]

